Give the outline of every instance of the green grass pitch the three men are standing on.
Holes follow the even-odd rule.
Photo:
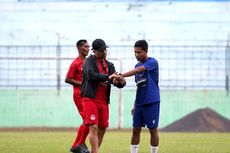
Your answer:
[[[1,153],[69,153],[74,131],[0,132]],[[131,130],[108,130],[100,153],[129,153]],[[88,139],[87,145],[89,146]],[[141,134],[139,153],[149,153],[149,133]],[[230,153],[230,133],[160,132],[158,153]]]

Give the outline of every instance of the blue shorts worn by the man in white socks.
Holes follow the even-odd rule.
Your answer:
[[[133,127],[157,128],[160,114],[160,102],[135,107]]]

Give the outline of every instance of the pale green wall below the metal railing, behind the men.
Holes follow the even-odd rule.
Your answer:
[[[110,128],[130,128],[135,90],[122,90],[121,118],[119,90],[113,88]],[[221,90],[161,91],[160,127],[192,111],[210,107],[230,119],[230,97]],[[82,122],[72,100],[72,90],[0,90],[0,127],[75,127]],[[119,123],[121,122],[121,123]]]

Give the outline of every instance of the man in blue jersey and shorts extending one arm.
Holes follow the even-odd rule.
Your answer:
[[[130,153],[138,153],[141,128],[148,127],[150,132],[151,153],[157,153],[159,136],[158,121],[160,112],[159,67],[155,58],[148,57],[148,43],[138,40],[134,45],[134,54],[138,61],[133,70],[120,75],[135,75],[137,85],[133,114],[133,132]]]

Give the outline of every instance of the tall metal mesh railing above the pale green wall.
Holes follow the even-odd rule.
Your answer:
[[[160,67],[162,89],[225,89],[229,93],[230,50],[226,46],[149,46]],[[0,46],[0,88],[67,87],[64,78],[77,56],[74,46]],[[118,71],[136,64],[133,46],[110,46]],[[134,87],[132,81],[128,87]]]

